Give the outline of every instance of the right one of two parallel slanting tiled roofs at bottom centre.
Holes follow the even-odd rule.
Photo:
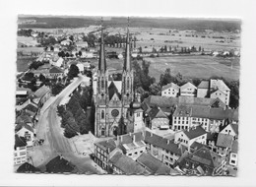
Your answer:
[[[137,161],[150,170],[152,174],[170,174],[170,168],[164,165],[158,158],[150,154],[142,154]]]

